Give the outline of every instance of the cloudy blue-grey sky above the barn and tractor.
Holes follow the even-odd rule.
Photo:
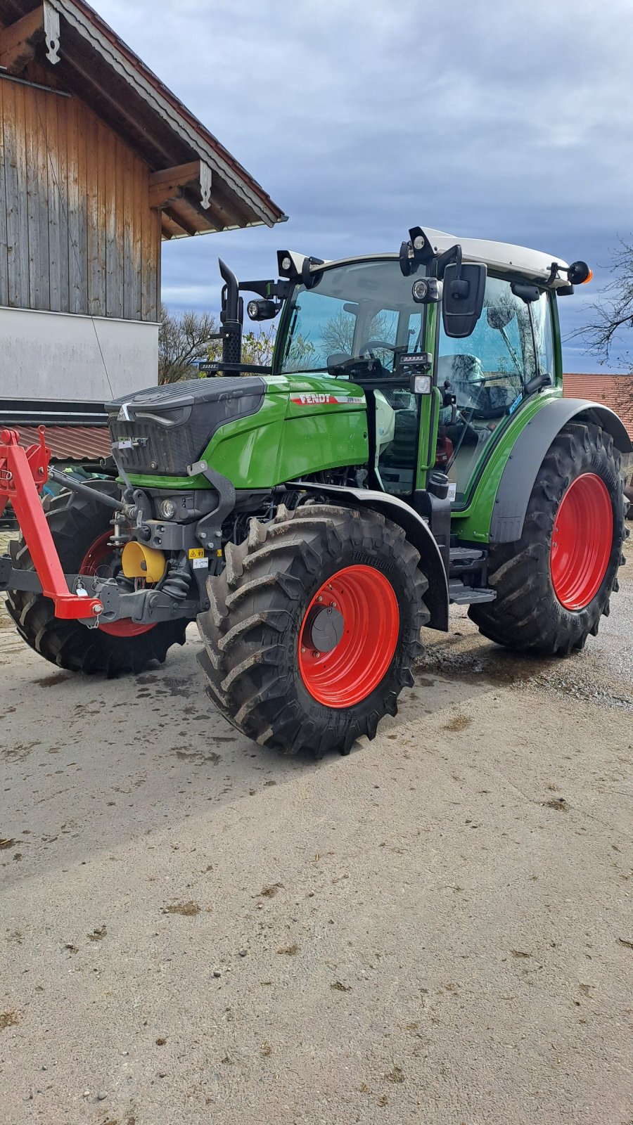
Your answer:
[[[289,215],[166,244],[171,308],[217,309],[219,254],[270,277],[420,224],[586,259],[585,322],[633,231],[631,0],[92,2]],[[573,340],[565,369],[599,370]]]

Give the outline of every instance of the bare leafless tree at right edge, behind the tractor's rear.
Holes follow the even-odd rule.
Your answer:
[[[589,305],[590,318],[585,327],[571,333],[596,352],[600,363],[608,362],[612,348],[622,340],[627,342],[633,330],[633,245],[624,238],[618,241],[619,246],[612,252],[613,280]],[[624,357],[627,367],[633,368],[628,350]]]

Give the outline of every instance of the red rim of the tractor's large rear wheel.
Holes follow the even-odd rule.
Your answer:
[[[564,493],[552,533],[552,584],[565,610],[582,610],[596,596],[607,570],[612,543],[608,488],[595,472],[585,472]]]

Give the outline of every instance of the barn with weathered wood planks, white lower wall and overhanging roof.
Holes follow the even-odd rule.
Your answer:
[[[157,381],[161,243],[285,218],[82,0],[0,0],[0,424]]]

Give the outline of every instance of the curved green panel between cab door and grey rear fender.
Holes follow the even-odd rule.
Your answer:
[[[498,440],[487,447],[475,470],[475,479],[478,477],[479,479],[472,497],[464,508],[453,512],[452,530],[460,540],[470,543],[488,542],[497,489],[515,442],[531,418],[561,395],[560,387],[552,387],[551,390],[529,398],[512,414],[506,425],[500,428]]]

